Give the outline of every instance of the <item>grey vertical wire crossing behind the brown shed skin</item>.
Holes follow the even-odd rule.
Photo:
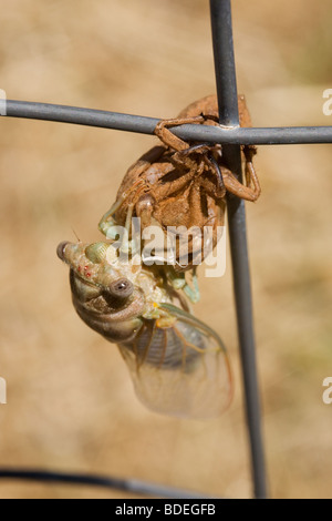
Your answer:
[[[210,0],[210,14],[219,121],[220,124],[226,126],[239,126],[230,0]],[[242,181],[240,146],[224,145],[222,155],[229,168]],[[255,498],[262,499],[267,497],[267,480],[261,433],[245,203],[242,200],[230,195],[228,196],[227,208],[252,480]]]

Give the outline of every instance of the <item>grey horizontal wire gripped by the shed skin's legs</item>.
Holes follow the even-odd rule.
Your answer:
[[[56,121],[85,126],[153,134],[158,119],[77,106],[7,100],[3,118]],[[281,145],[332,143],[332,126],[222,127],[181,125],[172,130],[187,141],[220,144]]]

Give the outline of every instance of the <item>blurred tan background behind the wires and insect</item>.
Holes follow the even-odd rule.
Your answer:
[[[173,118],[215,92],[207,0],[12,0],[1,10],[8,99]],[[238,88],[256,126],[331,125],[330,0],[234,1]],[[97,223],[127,167],[156,139],[0,119],[0,466],[132,477],[247,498],[250,461],[231,266],[200,279],[196,314],[226,343],[236,396],[211,421],[137,401],[116,346],[71,304],[64,239]],[[262,195],[247,203],[263,431],[274,498],[331,498],[330,145],[260,146]],[[228,256],[229,259],[229,256]],[[1,498],[126,498],[118,491],[0,482]]]

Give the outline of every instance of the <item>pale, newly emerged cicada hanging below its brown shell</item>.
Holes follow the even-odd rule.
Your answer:
[[[117,344],[135,391],[149,409],[190,418],[220,415],[231,371],[219,336],[195,318],[157,266],[123,263],[112,243],[62,243],[74,307],[92,329]],[[176,304],[176,305],[175,305]]]

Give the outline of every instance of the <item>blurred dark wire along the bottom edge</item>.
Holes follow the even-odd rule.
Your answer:
[[[165,487],[162,484],[149,483],[147,481],[83,473],[53,472],[30,469],[0,469],[0,480],[3,479],[27,480],[43,483],[85,484],[89,487],[117,489],[141,496],[155,496],[173,499],[208,499],[208,497],[205,494]]]

